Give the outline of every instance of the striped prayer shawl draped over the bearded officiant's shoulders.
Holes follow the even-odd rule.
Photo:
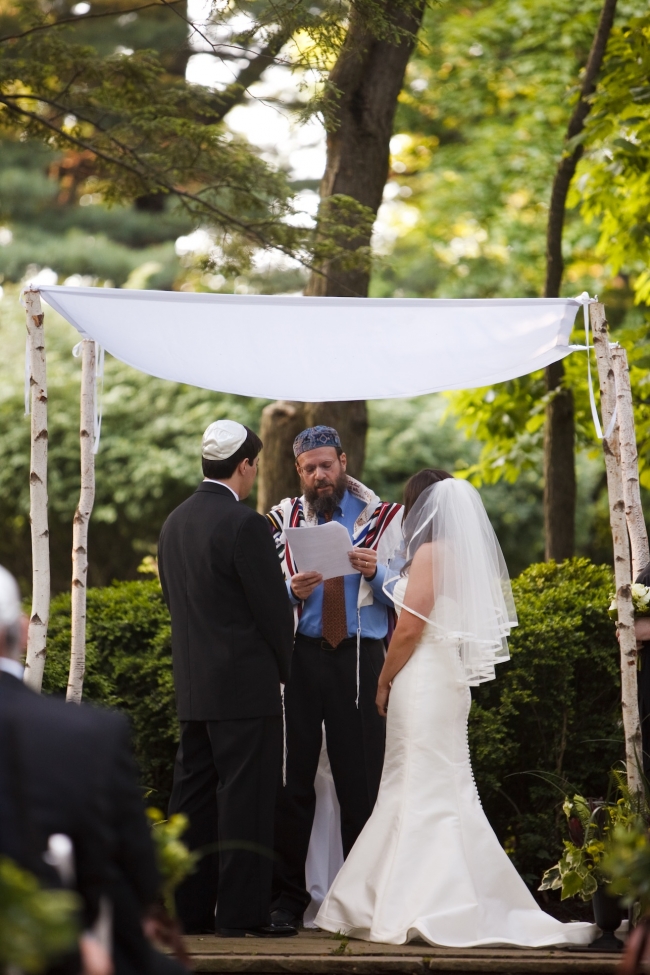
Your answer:
[[[386,565],[402,539],[402,505],[381,501],[374,491],[371,491],[353,477],[348,477],[348,491],[365,503],[365,508],[354,523],[352,544],[362,548],[372,548],[377,552],[377,559]],[[271,523],[273,539],[282,564],[285,579],[289,580],[298,571],[287,545],[284,529],[302,528],[303,525],[317,525],[318,517],[310,510],[304,496],[301,498],[285,498],[275,505],[266,516]],[[374,602],[372,589],[366,579],[361,577],[359,583],[359,598],[357,600],[357,620],[360,636],[359,611],[362,606],[371,606]],[[302,603],[295,608],[296,627],[302,613]]]

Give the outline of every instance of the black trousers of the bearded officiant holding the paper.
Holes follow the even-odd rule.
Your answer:
[[[284,690],[287,784],[278,790],[273,907],[299,916],[310,901],[305,860],[316,807],[314,778],[323,721],[345,856],[373,810],[384,763],[386,722],[375,705],[383,640],[361,640],[358,708],[356,639],[344,640],[335,650],[323,649],[321,643],[297,634]]]

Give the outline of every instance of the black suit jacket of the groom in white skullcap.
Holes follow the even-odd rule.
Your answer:
[[[181,721],[281,714],[293,614],[266,519],[202,482],[158,546]]]

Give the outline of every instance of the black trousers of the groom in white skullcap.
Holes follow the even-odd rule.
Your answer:
[[[183,841],[211,848],[176,894],[187,932],[269,923],[273,816],[282,767],[282,717],[181,721],[170,816]]]

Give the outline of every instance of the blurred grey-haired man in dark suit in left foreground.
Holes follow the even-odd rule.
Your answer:
[[[72,975],[83,964],[88,975],[110,975],[111,959],[91,934],[111,881],[99,770],[89,739],[79,737],[73,709],[24,685],[26,637],[18,586],[0,566],[0,853],[44,886],[61,887],[61,876],[47,863],[49,839],[70,838],[84,934],[80,955],[48,971]]]

